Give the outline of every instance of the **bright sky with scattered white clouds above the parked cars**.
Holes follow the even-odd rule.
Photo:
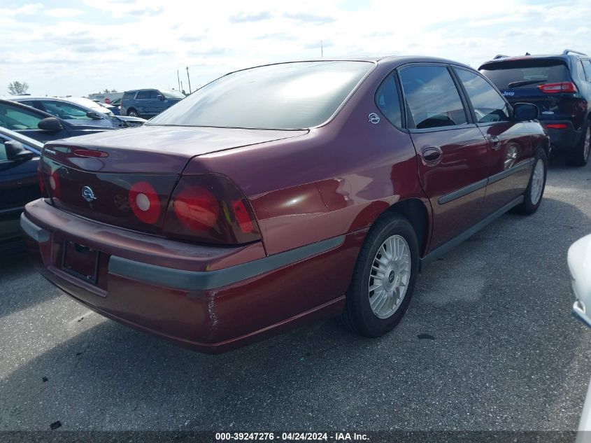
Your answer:
[[[331,57],[591,54],[591,1],[0,0],[0,96],[192,90],[236,69]],[[321,49],[322,42],[322,49]]]

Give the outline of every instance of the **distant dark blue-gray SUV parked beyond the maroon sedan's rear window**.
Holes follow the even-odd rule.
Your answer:
[[[121,99],[121,115],[151,118],[185,98],[176,90],[141,89],[126,91]]]

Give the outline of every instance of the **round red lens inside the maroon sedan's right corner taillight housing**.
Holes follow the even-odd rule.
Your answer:
[[[220,204],[211,192],[201,186],[189,186],[173,199],[176,218],[192,231],[207,231],[218,223]]]

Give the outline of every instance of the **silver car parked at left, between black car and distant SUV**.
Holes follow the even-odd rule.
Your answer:
[[[101,126],[101,127],[129,127],[131,125],[143,125],[143,118],[120,118],[113,115],[108,108],[85,99],[83,97],[32,97],[29,95],[8,97],[11,101],[26,104],[40,111],[45,111],[61,118],[71,125]],[[131,122],[129,121],[131,120]],[[130,124],[131,123],[131,124]]]

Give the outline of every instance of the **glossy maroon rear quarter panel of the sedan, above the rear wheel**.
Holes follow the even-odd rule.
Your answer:
[[[231,178],[248,196],[271,255],[365,228],[392,204],[425,202],[410,136],[373,101],[392,68],[376,69],[324,127],[292,139],[202,155],[192,171]]]

